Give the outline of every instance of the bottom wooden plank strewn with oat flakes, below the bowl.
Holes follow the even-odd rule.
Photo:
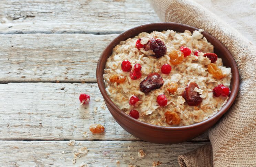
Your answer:
[[[90,141],[80,142],[75,146],[68,146],[67,141],[1,141],[0,166],[18,167],[77,167],[82,162],[90,167],[136,167],[152,166],[153,161],[160,161],[160,167],[178,167],[177,156],[209,142],[185,142],[182,144],[160,145],[147,142],[113,142]],[[88,148],[87,154],[81,156],[76,163],[72,163],[73,149],[82,146]],[[133,146],[128,150],[128,146]],[[138,157],[138,150],[143,149],[147,155]],[[62,152],[65,152],[62,154]],[[134,160],[131,157],[134,157]],[[116,163],[120,161],[120,164]]]

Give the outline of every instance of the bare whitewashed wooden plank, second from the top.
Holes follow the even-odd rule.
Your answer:
[[[96,82],[100,53],[117,34],[0,35],[0,82]]]

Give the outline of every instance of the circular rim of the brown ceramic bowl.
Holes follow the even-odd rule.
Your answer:
[[[122,36],[126,36],[126,34],[132,33],[133,31],[135,31],[135,29],[144,29],[148,26],[162,26],[162,25],[168,25],[171,26],[176,25],[176,26],[181,26],[181,27],[186,27],[186,28],[190,28],[190,29],[194,29],[194,30],[199,30],[199,28],[195,28],[189,25],[185,25],[185,24],[181,24],[181,23],[174,23],[174,22],[157,22],[157,23],[150,23],[150,24],[143,24],[134,28],[130,28],[127,31],[124,31],[123,33],[119,34],[115,39],[113,39],[103,50],[103,52],[101,53],[98,63],[97,63],[97,69],[96,69],[96,79],[97,79],[97,83],[98,83],[98,87],[99,90],[104,98],[104,100],[106,101],[107,104],[110,105],[110,107],[115,110],[115,112],[118,112],[117,114],[125,117],[126,119],[128,119],[129,122],[132,123],[136,123],[138,126],[147,126],[148,128],[153,128],[153,129],[157,129],[157,130],[162,130],[162,131],[171,131],[171,130],[189,130],[189,129],[194,129],[194,128],[198,128],[199,126],[203,126],[207,123],[210,123],[212,121],[215,121],[216,119],[218,120],[223,114],[225,114],[225,112],[227,112],[227,110],[231,107],[231,105],[233,104],[234,100],[236,99],[238,90],[239,90],[239,72],[237,69],[237,65],[236,62],[233,58],[233,56],[231,55],[231,53],[227,50],[227,48],[220,42],[218,41],[215,37],[213,37],[212,35],[203,32],[201,34],[204,35],[205,34],[207,36],[209,36],[210,38],[213,38],[213,40],[216,41],[216,43],[218,43],[218,45],[220,46],[221,50],[224,50],[227,53],[227,56],[231,59],[231,67],[234,66],[234,71],[232,72],[232,78],[234,79],[234,84],[233,84],[233,90],[227,100],[227,102],[222,106],[222,108],[213,116],[201,121],[201,122],[197,122],[194,124],[190,124],[190,125],[186,125],[186,126],[180,126],[180,127],[164,127],[164,126],[158,126],[158,125],[154,125],[154,124],[149,124],[146,122],[142,122],[140,120],[134,119],[132,117],[130,117],[129,115],[127,115],[125,112],[123,112],[122,110],[120,110],[115,104],[114,102],[112,102],[112,100],[110,99],[110,97],[108,96],[106,89],[105,89],[105,83],[104,83],[104,78],[103,78],[103,74],[104,74],[104,69],[106,66],[106,62],[103,62],[102,59],[104,56],[111,56],[111,55],[106,55],[105,52],[107,51],[107,49],[109,47],[115,47],[116,45],[114,45],[114,43],[116,41],[119,41],[119,38]],[[166,29],[167,30],[167,29]],[[143,30],[141,31],[143,32]],[[140,32],[140,33],[141,33]],[[153,31],[152,31],[153,32]],[[138,33],[139,34],[139,33]],[[128,39],[129,37],[127,37],[126,39]],[[125,40],[126,40],[125,39]],[[207,39],[207,38],[206,38]],[[120,41],[119,41],[120,42]],[[114,48],[113,47],[113,48]],[[100,71],[100,67],[104,66],[103,71]],[[102,75],[101,75],[102,74]],[[109,110],[110,111],[110,110]],[[111,111],[110,111],[111,112]]]

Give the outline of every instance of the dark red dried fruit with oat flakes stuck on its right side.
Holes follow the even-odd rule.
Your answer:
[[[195,82],[191,82],[184,91],[184,99],[189,106],[198,106],[202,102],[200,94],[194,91],[195,87],[199,88]]]

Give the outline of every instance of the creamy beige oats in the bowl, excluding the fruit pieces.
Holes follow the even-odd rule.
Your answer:
[[[226,103],[228,96],[213,96],[213,88],[218,84],[223,84],[230,87],[231,68],[226,68],[222,64],[222,59],[217,58],[214,64],[222,71],[223,78],[216,79],[209,73],[207,66],[211,60],[204,57],[204,53],[213,52],[213,45],[207,42],[206,38],[200,34],[203,30],[177,33],[172,30],[152,33],[140,33],[134,38],[129,38],[126,41],[121,41],[113,49],[112,55],[106,62],[104,71],[104,82],[106,91],[111,100],[126,114],[129,115],[130,110],[135,109],[139,112],[138,120],[155,124],[159,126],[185,126],[196,122],[201,122],[214,115]],[[157,38],[163,41],[166,45],[166,54],[160,58],[151,56],[154,54],[152,50],[145,51],[144,48],[138,49],[135,46],[136,41],[141,38],[141,44],[145,45],[149,39]],[[173,50],[180,50],[181,46],[188,47],[192,52],[189,56],[184,57],[183,61],[178,65],[170,63],[169,53]],[[194,52],[200,50],[198,56]],[[180,55],[179,55],[180,56]],[[136,63],[141,64],[141,77],[137,80],[132,80],[129,76],[130,72],[125,72],[121,69],[121,63],[124,60],[129,60],[132,69]],[[170,64],[172,70],[169,74],[163,74],[161,67],[163,64]],[[140,82],[143,81],[149,73],[157,72],[161,75],[164,84],[156,90],[149,93],[140,91]],[[126,77],[124,83],[111,83],[109,78],[113,74],[121,74]],[[168,83],[176,83],[177,91],[169,93],[167,91]],[[185,87],[195,82],[199,88],[194,91],[198,92],[202,98],[202,102],[198,106],[189,106],[182,93]],[[157,103],[157,96],[160,94],[166,95],[168,103],[162,107]],[[140,103],[136,106],[129,105],[129,99],[132,95],[140,99]],[[180,117],[179,124],[168,124],[164,113],[166,111],[174,111]]]

